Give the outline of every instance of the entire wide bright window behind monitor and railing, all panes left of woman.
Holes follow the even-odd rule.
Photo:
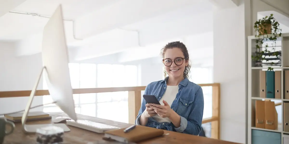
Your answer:
[[[137,86],[138,67],[135,65],[78,64],[68,65],[72,88],[104,88]],[[44,78],[43,89],[47,89]],[[73,94],[75,112],[83,115],[128,123],[128,92]],[[43,96],[43,103],[52,102]],[[45,105],[45,112],[61,112],[56,105]],[[109,113],[109,114],[108,114]]]

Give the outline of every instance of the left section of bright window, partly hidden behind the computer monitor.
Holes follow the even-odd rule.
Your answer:
[[[72,88],[95,88],[96,87],[96,64],[69,63],[69,73]],[[43,79],[43,89],[48,89],[46,79]],[[75,112],[89,116],[96,116],[96,94],[73,94]],[[43,96],[43,103],[51,103],[51,96]],[[45,112],[62,111],[55,104],[45,105]]]

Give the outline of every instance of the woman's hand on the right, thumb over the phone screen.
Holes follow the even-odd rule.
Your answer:
[[[168,105],[165,100],[163,100],[163,103],[164,105],[151,104],[150,107],[153,108],[155,113],[157,113],[161,118],[168,118],[175,111],[171,109],[170,105]]]

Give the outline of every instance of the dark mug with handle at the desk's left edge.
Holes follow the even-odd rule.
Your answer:
[[[11,130],[9,132],[6,130],[6,125],[9,125],[11,127]],[[3,143],[4,137],[6,135],[12,134],[14,128],[15,124],[13,122],[7,121],[7,119],[4,117],[0,118],[0,144]]]

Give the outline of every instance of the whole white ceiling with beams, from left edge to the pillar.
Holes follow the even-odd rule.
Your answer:
[[[76,22],[76,37],[84,38],[67,40],[68,46],[79,47],[74,50],[79,59],[146,49],[161,41],[212,31],[209,0],[26,0],[0,17],[0,40],[17,41],[17,56],[41,52],[41,33],[49,19],[11,12],[49,17],[60,3],[64,19]],[[73,39],[72,22],[64,24],[66,37]],[[86,35],[90,37],[82,37]]]

